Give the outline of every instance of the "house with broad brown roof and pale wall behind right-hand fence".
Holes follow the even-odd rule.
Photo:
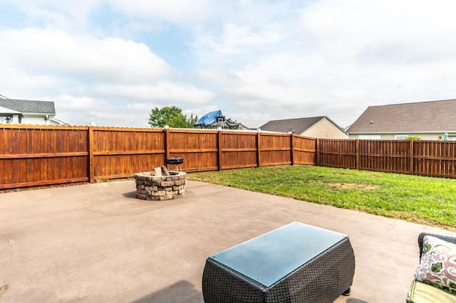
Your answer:
[[[350,139],[416,136],[425,140],[456,140],[456,99],[370,106],[347,133]]]

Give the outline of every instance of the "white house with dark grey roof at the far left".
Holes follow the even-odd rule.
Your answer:
[[[54,118],[51,101],[0,99],[0,123],[68,125]]]

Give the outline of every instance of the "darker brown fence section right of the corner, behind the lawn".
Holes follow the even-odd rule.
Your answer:
[[[456,142],[319,139],[317,165],[456,178]]]

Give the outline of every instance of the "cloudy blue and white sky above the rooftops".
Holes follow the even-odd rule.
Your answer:
[[[456,98],[452,0],[0,0],[0,94],[73,125],[155,107],[257,128]]]

